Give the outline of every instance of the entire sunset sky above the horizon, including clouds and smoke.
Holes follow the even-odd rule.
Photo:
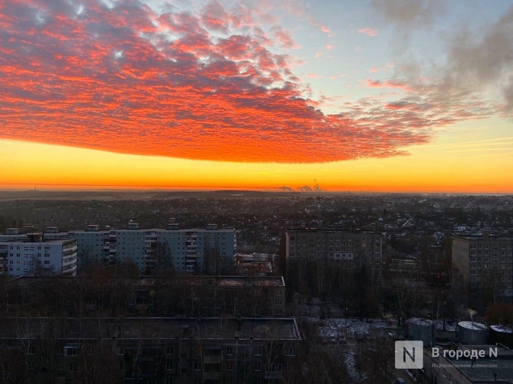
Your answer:
[[[513,1],[4,0],[0,188],[513,193]]]

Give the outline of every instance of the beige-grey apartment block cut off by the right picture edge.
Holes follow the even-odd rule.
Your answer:
[[[454,236],[452,267],[468,283],[471,292],[486,282],[494,282],[500,296],[513,298],[513,236]]]

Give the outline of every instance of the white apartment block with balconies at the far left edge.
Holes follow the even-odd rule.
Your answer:
[[[76,264],[74,239],[44,240],[42,233],[29,233],[23,240],[0,241],[0,273],[76,275]]]

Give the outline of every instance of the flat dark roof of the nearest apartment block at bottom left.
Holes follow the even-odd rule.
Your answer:
[[[44,325],[44,326],[42,326]],[[122,332],[120,332],[122,330]],[[0,338],[301,340],[294,318],[4,317]]]

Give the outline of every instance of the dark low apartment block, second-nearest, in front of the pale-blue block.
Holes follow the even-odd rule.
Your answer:
[[[282,276],[20,276],[9,282],[6,313],[31,313],[46,307],[48,313],[75,316],[75,307],[58,308],[80,295],[82,314],[95,316],[225,316],[282,317],[285,315],[285,281]],[[6,289],[7,289],[6,288]],[[44,292],[44,293],[42,293]],[[52,293],[50,293],[52,292]],[[46,302],[47,294],[54,301]]]

